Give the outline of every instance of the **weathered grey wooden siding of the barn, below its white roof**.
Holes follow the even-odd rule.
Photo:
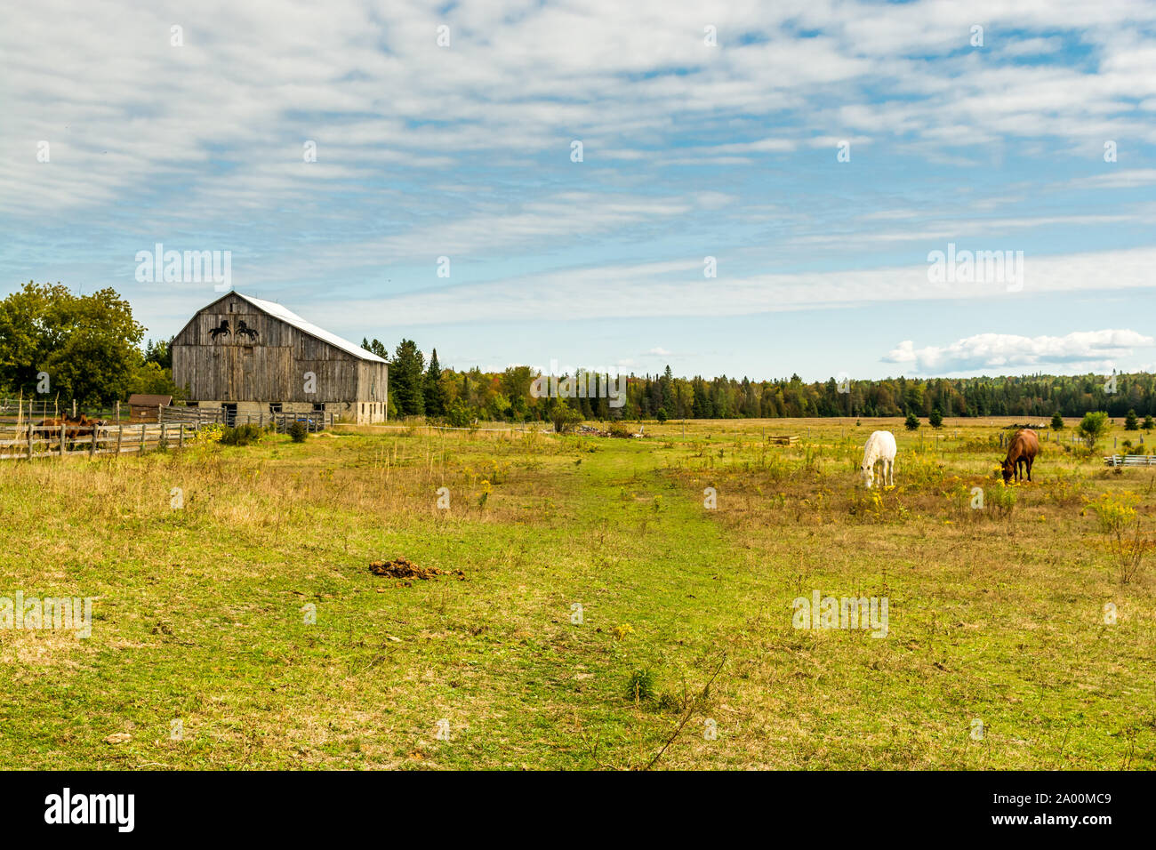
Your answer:
[[[213,328],[244,321],[257,331],[214,339]],[[305,392],[305,374],[316,392]],[[362,404],[386,407],[388,364],[362,360],[311,337],[230,294],[200,310],[172,341],[172,377],[191,401],[342,405],[358,414]],[[358,414],[356,419],[361,420]]]

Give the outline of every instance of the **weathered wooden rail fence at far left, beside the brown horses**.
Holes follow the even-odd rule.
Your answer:
[[[195,430],[183,423],[97,426],[90,436],[68,439],[65,427],[7,426],[0,427],[0,460],[143,454],[162,445],[183,449]]]

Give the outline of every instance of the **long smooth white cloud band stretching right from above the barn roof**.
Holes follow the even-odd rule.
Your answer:
[[[725,257],[719,259],[725,269]],[[1151,286],[1156,249],[1027,257],[1021,293],[1005,283],[931,283],[927,264],[798,274],[703,279],[701,258],[566,268],[490,283],[422,289],[342,305],[347,312],[400,325],[447,321],[605,319],[609,317],[743,316],[902,301],[1014,300],[1045,293],[1106,291]],[[580,297],[576,297],[580,293]],[[324,321],[319,321],[325,326]]]

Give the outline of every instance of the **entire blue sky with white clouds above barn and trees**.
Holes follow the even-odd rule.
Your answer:
[[[161,243],[459,368],[1156,368],[1150,0],[38,0],[0,72],[0,294],[153,337]]]

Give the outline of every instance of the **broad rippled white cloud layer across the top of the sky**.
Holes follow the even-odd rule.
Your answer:
[[[601,139],[612,162],[630,165],[639,140],[725,132],[750,114],[791,118],[772,135],[766,126],[748,141],[726,132],[655,158],[743,164],[857,131],[931,148],[1029,136],[1156,141],[1133,109],[1156,99],[1156,51],[1143,37],[1156,6],[991,2],[981,13],[833,0],[710,10],[664,0],[333,0],[318,15],[265,0],[43,0],[0,28],[3,208],[91,208],[165,183],[183,186],[180,201],[202,192],[228,200],[252,184],[253,201],[276,207],[317,191],[299,170],[262,173],[304,139],[318,140],[319,162],[340,156],[362,179],[390,176],[391,163],[439,169],[470,154],[516,161],[557,150],[564,161],[576,135]],[[958,53],[977,15],[990,50]],[[706,21],[718,47],[703,44]],[[177,22],[180,47],[170,45]],[[435,44],[440,23],[451,28],[446,49]],[[795,38],[795,29],[815,34]],[[1000,35],[1013,29],[1025,35]],[[1057,32],[1076,35],[1095,64],[1060,65]],[[741,43],[747,34],[758,38]],[[1051,60],[1001,58],[1024,54]],[[42,139],[54,145],[51,168],[35,160]],[[224,179],[207,168],[222,158],[231,164]]]

